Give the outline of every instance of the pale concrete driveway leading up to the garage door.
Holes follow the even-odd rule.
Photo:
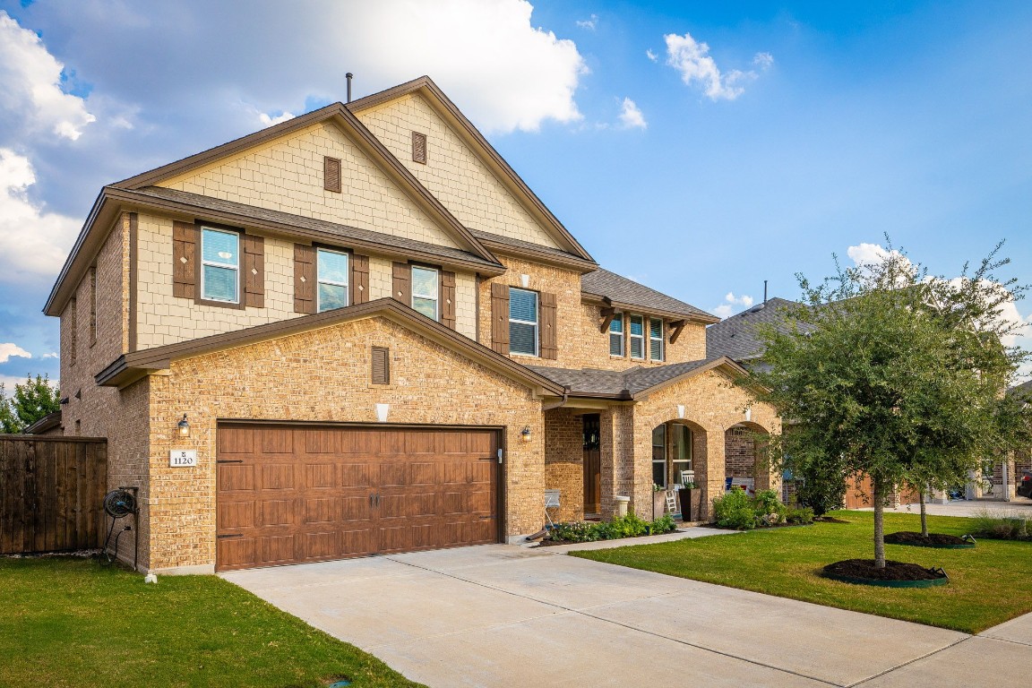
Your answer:
[[[566,549],[488,545],[222,577],[440,688],[1030,684],[1032,615],[970,636]]]

